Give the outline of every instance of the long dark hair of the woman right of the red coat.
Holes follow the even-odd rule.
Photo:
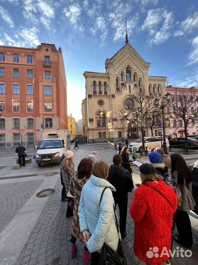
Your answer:
[[[177,172],[177,183],[180,185],[184,184],[184,179],[186,184],[192,182],[192,173],[183,157],[179,154],[172,154],[170,158],[172,164],[172,172]]]

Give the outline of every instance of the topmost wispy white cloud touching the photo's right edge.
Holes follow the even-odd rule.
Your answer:
[[[177,23],[179,24],[179,23]],[[175,31],[174,36],[183,36],[191,33],[193,29],[198,28],[198,12],[196,11],[192,16],[187,17],[179,25],[179,29]]]

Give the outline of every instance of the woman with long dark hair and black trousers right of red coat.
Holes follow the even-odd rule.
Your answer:
[[[194,210],[194,206],[196,206],[192,195],[192,173],[181,155],[172,154],[170,157],[172,176],[182,195],[181,209],[177,209],[174,215],[178,234],[173,238],[177,243],[189,248],[193,244],[193,236],[188,212]]]

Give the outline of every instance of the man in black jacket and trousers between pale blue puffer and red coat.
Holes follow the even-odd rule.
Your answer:
[[[126,236],[126,222],[128,209],[128,192],[133,189],[132,176],[128,170],[122,166],[122,157],[120,155],[113,156],[113,164],[110,166],[108,181],[112,184],[116,191],[113,191],[115,207],[118,204],[120,212],[120,234],[124,238]]]

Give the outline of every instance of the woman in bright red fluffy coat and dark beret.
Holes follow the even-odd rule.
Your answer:
[[[130,207],[135,224],[134,253],[147,264],[166,264],[170,259],[167,252],[171,251],[176,194],[155,174],[153,165],[144,163],[139,170],[142,184]]]

